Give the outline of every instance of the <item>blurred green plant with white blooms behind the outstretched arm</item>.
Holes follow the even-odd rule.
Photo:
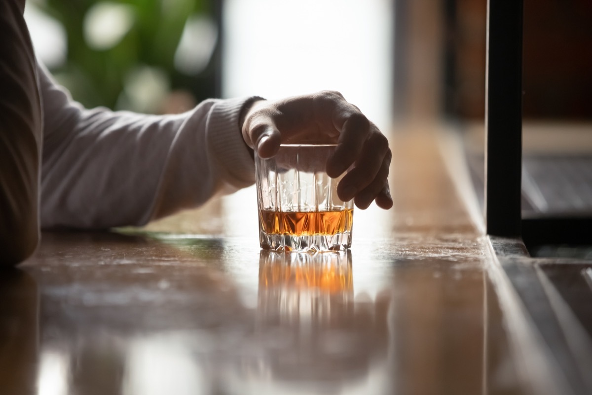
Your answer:
[[[213,97],[219,27],[210,0],[37,0],[38,59],[86,107],[176,113]]]

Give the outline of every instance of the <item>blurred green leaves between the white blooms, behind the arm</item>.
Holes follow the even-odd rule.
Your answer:
[[[131,10],[131,27],[106,49],[94,49],[85,37],[86,17],[97,5]],[[215,93],[211,61],[198,75],[186,75],[174,64],[186,21],[195,15],[214,18],[214,0],[46,0],[37,6],[65,28],[66,63],[51,71],[85,107],[137,110],[121,97],[126,79],[139,66],[157,70],[169,89],[189,91],[196,100]]]

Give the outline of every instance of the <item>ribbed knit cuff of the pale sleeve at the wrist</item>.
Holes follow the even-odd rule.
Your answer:
[[[239,129],[239,115],[243,106],[253,98],[219,100],[208,119],[208,140],[228,181],[237,188],[255,183],[255,162]]]

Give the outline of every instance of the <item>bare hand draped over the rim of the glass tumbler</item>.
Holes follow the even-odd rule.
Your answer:
[[[362,209],[373,200],[381,208],[392,207],[387,138],[339,92],[256,101],[244,115],[242,133],[261,158],[274,156],[282,143],[337,143],[327,159],[327,174],[336,178],[354,165],[337,186],[339,198],[353,198]]]

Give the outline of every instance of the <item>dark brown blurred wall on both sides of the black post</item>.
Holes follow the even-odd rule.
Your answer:
[[[443,0],[443,111],[479,119],[485,98],[485,0]],[[525,0],[525,118],[592,120],[592,1]]]

